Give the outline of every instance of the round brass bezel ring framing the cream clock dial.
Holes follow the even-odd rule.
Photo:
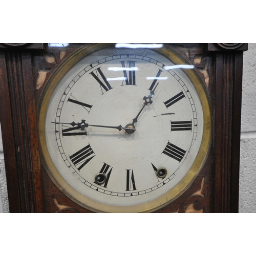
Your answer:
[[[104,49],[107,47],[113,47],[115,44],[87,44],[77,51],[72,53],[67,59],[65,59],[53,72],[47,81],[44,90],[41,93],[39,100],[39,139],[42,153],[42,164],[44,165],[48,175],[55,183],[55,185],[71,200],[81,205],[84,208],[95,212],[152,212],[159,208],[162,208],[166,204],[177,199],[187,188],[193,183],[198,174],[200,173],[206,158],[208,156],[210,142],[211,142],[211,108],[210,101],[208,100],[208,93],[204,82],[201,77],[197,74],[194,69],[185,69],[184,73],[188,76],[191,82],[194,84],[199,98],[202,103],[203,118],[204,118],[204,129],[201,146],[199,149],[198,156],[196,157],[193,165],[189,169],[185,177],[171,190],[169,190],[163,196],[144,204],[134,206],[112,206],[102,203],[95,202],[87,197],[82,196],[73,187],[71,187],[59,174],[55,167],[50,154],[47,149],[46,136],[45,136],[45,120],[48,110],[48,104],[50,98],[62,79],[62,77],[82,58],[89,54]],[[164,45],[160,49],[155,49],[158,53],[164,55],[169,60],[174,62],[176,65],[189,64],[180,54],[174,51],[169,46]]]

